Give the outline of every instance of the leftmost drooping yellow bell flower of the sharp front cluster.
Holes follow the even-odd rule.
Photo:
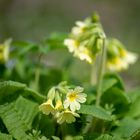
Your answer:
[[[43,114],[49,115],[51,114],[55,114],[55,108],[53,106],[52,100],[48,99],[45,103],[41,104],[39,106],[40,111],[43,112]]]

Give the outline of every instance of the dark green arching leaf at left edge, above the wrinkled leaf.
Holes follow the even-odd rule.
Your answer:
[[[14,81],[0,82],[0,104],[11,102],[18,98],[19,95],[23,95],[40,103],[45,99],[44,96],[29,89],[25,84]]]

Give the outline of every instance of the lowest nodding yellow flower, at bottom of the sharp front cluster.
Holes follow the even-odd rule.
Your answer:
[[[62,111],[61,113],[59,113],[57,115],[57,122],[59,124],[62,124],[65,121],[67,123],[73,123],[76,120],[75,117],[80,117],[80,116],[79,116],[79,114],[77,114],[75,112],[72,112],[72,111],[67,109],[67,110]]]

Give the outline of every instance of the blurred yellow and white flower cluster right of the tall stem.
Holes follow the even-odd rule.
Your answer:
[[[107,40],[106,67],[111,71],[121,71],[128,68],[129,64],[136,62],[138,56],[125,49],[117,39]]]

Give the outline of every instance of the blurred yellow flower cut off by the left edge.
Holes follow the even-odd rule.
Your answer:
[[[3,44],[0,44],[0,64],[4,64],[9,59],[9,47],[11,39],[6,40]]]

